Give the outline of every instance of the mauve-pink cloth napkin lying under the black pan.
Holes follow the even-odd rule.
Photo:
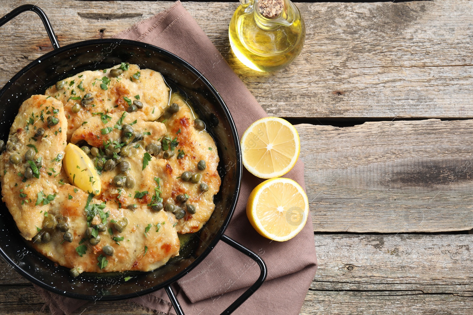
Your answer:
[[[240,137],[251,123],[267,116],[180,1],[115,37],[156,45],[197,68],[227,103]],[[299,160],[285,177],[305,187],[304,164]],[[244,170],[241,194],[226,234],[263,258],[268,277],[233,314],[298,315],[317,270],[312,219],[309,215],[304,229],[286,242],[260,236],[250,225],[245,208],[251,191],[262,181]],[[186,315],[219,314],[258,276],[259,268],[253,260],[219,242],[201,264],[177,281],[175,292]],[[86,303],[36,289],[54,315],[70,314]],[[175,314],[164,290],[130,302],[158,314]]]

